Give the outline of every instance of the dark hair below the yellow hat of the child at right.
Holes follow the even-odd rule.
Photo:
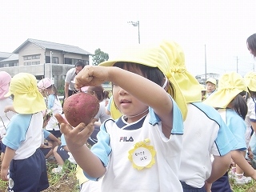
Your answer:
[[[244,98],[245,95],[246,95],[246,91],[242,91],[240,94],[238,94],[232,100],[233,109],[243,119],[246,118],[246,114],[248,112],[248,106],[247,106],[247,103],[246,103],[246,99]],[[247,97],[247,95],[246,95],[246,97]]]

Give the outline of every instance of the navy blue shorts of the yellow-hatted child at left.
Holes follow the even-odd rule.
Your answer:
[[[8,191],[41,191],[49,187],[46,159],[40,149],[29,158],[10,162]]]

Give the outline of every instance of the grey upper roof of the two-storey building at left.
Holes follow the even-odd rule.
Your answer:
[[[16,50],[14,50],[14,54],[18,54],[18,52],[22,49],[23,46],[26,46],[28,43],[33,43],[36,46],[41,47],[44,50],[62,50],[65,53],[75,53],[75,54],[85,54],[91,55],[86,50],[82,50],[78,46],[69,46],[65,44],[60,44],[56,42],[46,42],[42,40],[37,40],[33,38],[28,38],[26,42],[23,42],[21,46],[19,46]]]

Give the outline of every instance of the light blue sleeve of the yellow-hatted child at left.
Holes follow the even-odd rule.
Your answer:
[[[2,143],[13,150],[18,150],[21,142],[26,139],[26,131],[30,126],[32,114],[16,114],[7,126],[6,136]]]

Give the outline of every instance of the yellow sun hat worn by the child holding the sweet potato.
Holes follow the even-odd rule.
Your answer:
[[[173,50],[174,52],[177,50]],[[178,83],[175,81],[174,77],[170,73],[169,58],[166,56],[166,53],[157,45],[146,46],[138,45],[130,47],[122,52],[118,58],[106,62],[102,62],[99,66],[113,66],[116,62],[133,62],[138,63],[144,66],[158,67],[163,74],[166,75],[166,78],[174,85],[174,101],[177,103],[179,109],[182,111],[183,120],[186,119],[187,106],[186,100],[182,95]],[[170,94],[170,90],[168,91]],[[111,109],[114,109],[112,107]],[[112,113],[112,112],[111,112]]]

